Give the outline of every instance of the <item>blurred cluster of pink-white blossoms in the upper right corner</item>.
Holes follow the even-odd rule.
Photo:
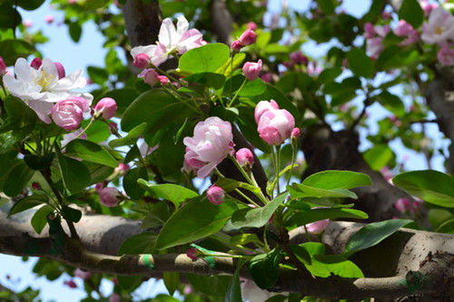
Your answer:
[[[439,45],[437,58],[442,65],[454,65],[454,16],[449,11],[438,5],[421,3],[425,15],[429,16],[428,22],[422,25],[419,32],[412,25],[404,20],[400,20],[398,25],[392,30],[394,35],[404,37],[400,46],[404,47],[417,43],[419,38],[432,45]],[[366,39],[366,49],[370,56],[377,59],[384,49],[383,39],[390,33],[390,25],[364,25],[364,38]]]

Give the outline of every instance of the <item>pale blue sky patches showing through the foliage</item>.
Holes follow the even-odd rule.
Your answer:
[[[290,0],[285,1],[294,9],[303,11],[307,9],[309,0]],[[64,64],[66,74],[73,72],[79,68],[85,68],[88,65],[104,65],[104,55],[106,51],[103,48],[104,37],[96,31],[96,27],[92,22],[85,23],[83,27],[83,35],[79,43],[74,44],[68,35],[68,29],[66,25],[58,25],[64,20],[64,14],[58,11],[54,11],[49,5],[50,1],[46,1],[38,10],[33,12],[27,12],[22,10],[21,15],[23,19],[28,19],[33,22],[32,31],[42,29],[44,35],[50,38],[49,42],[45,45],[41,45],[39,50],[44,54],[44,57],[52,58],[54,61],[58,61]],[[269,3],[269,11],[267,15],[264,15],[264,20],[269,20],[273,12],[279,12],[281,10],[282,2],[280,0],[272,0]],[[344,0],[342,8],[345,9],[350,15],[360,17],[368,11],[370,7],[370,1],[358,1],[358,0]],[[54,23],[48,25],[44,21],[45,15],[54,15]],[[331,47],[331,43],[322,45],[316,45],[315,43],[307,43],[303,45],[302,50],[311,55],[314,58],[320,58],[326,53]],[[0,50],[1,53],[1,50]],[[124,58],[123,58],[124,59]],[[402,87],[397,86],[391,90],[392,93],[397,95],[402,94]],[[406,106],[410,106],[410,98],[405,97],[404,102]],[[360,99],[356,100],[356,104],[360,104]],[[360,106],[361,107],[361,106]],[[370,131],[374,132],[377,130],[375,121],[389,116],[389,112],[375,104],[370,106],[368,110],[370,117],[368,118],[368,125]],[[433,118],[434,116],[429,116]],[[418,127],[418,126],[415,126]],[[442,140],[442,135],[439,133],[438,126],[429,125],[426,128],[429,136],[434,137],[436,146],[444,149],[448,146],[448,141]],[[360,136],[363,138],[366,135],[365,130],[360,131]],[[363,139],[362,139],[363,141]],[[361,150],[370,147],[368,143],[362,143],[360,146]],[[422,155],[418,155],[413,151],[410,151],[402,146],[400,141],[393,141],[390,143],[390,147],[396,153],[397,159],[400,162],[402,158],[408,157],[405,161],[405,167],[411,170],[427,169],[427,164]],[[434,169],[443,171],[443,158],[441,156],[435,157],[432,160],[432,167]],[[71,289],[64,286],[64,281],[69,280],[70,277],[64,275],[53,282],[49,282],[45,277],[36,277],[31,273],[32,268],[35,264],[36,259],[31,258],[27,262],[23,262],[21,257],[5,256],[0,254],[0,283],[7,287],[11,287],[15,290],[24,289],[27,286],[34,288],[41,288],[41,296],[44,301],[65,301],[73,302],[79,301],[84,298],[86,294],[81,289]],[[10,278],[7,279],[7,276]],[[74,281],[78,287],[83,287],[82,280],[75,278]],[[113,290],[113,284],[109,281],[104,281],[101,287],[101,291],[104,296],[109,296]],[[158,293],[167,293],[163,283],[155,282],[150,280],[144,282],[143,285],[136,291],[139,297],[153,297]]]

